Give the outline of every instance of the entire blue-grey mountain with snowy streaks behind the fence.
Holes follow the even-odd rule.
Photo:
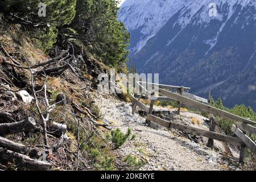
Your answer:
[[[256,0],[126,0],[119,19],[138,72],[256,110],[255,9]]]

